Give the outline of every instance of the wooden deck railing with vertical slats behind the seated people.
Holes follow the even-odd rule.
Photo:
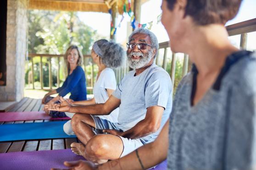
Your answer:
[[[234,35],[241,35],[240,38],[240,47],[245,49],[246,48],[246,43],[247,43],[247,33],[249,32],[256,32],[256,18],[255,19],[251,19],[248,21],[243,21],[237,24],[233,24],[230,26],[227,26],[227,31],[229,36],[234,36]],[[173,88],[176,88],[176,86],[178,85],[178,80],[175,80],[175,72],[176,72],[176,63],[177,63],[177,57],[183,57],[183,65],[182,65],[182,76],[186,75],[188,73],[188,71],[191,68],[191,62],[189,61],[189,56],[187,54],[182,54],[182,53],[171,53],[171,55],[167,54],[167,51],[171,52],[170,48],[169,48],[169,42],[163,42],[163,43],[159,43],[159,51],[161,51],[161,49],[164,50],[163,55],[162,53],[158,53],[158,56],[156,57],[156,64],[161,66],[163,69],[167,70],[167,67],[169,66],[168,64],[170,64],[170,71],[169,74],[171,76],[172,82],[173,82]],[[39,62],[39,73],[40,73],[40,88],[41,89],[52,89],[52,64],[51,64],[51,58],[57,57],[57,87],[60,86],[60,59],[63,59],[63,55],[50,55],[50,54],[28,54],[28,60],[29,62],[31,62],[32,67],[34,65],[33,63],[33,59],[34,57],[39,57],[40,58],[40,62]],[[43,62],[42,62],[42,58],[49,58],[49,88],[45,88],[43,85]],[[87,87],[88,90],[92,90],[93,86],[94,86],[94,81],[95,81],[95,74],[94,74],[94,64],[89,64],[87,61],[90,61],[90,63],[92,63],[92,60],[90,58],[89,55],[84,55],[84,68],[88,67],[88,65],[90,66],[91,74],[90,74],[90,85]],[[87,58],[87,59],[86,59]],[[169,60],[167,60],[169,58]],[[171,61],[171,62],[167,62],[167,61]],[[123,66],[121,68],[118,69],[114,69],[115,74],[116,74],[116,79],[117,79],[117,83],[120,82],[120,80],[122,79],[122,77],[128,72],[129,68],[127,65],[127,62],[125,62],[123,64]],[[32,85],[33,85],[33,89],[35,89],[34,86],[34,73],[33,73],[33,69],[31,69],[32,71]],[[86,72],[86,70],[85,70]],[[88,81],[88,80],[87,80]],[[88,84],[88,83],[87,83]]]

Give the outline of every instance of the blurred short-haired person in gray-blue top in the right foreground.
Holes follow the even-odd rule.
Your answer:
[[[161,21],[173,52],[193,69],[180,82],[158,138],[127,156],[72,170],[141,170],[167,158],[168,170],[256,169],[256,53],[228,40],[225,23],[241,0],[163,0]],[[169,131],[169,132],[168,132]]]

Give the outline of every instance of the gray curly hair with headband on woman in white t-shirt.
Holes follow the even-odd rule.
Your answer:
[[[105,39],[98,40],[95,43],[97,43],[102,52],[100,58],[104,65],[110,68],[117,68],[123,64],[125,51],[121,45]]]

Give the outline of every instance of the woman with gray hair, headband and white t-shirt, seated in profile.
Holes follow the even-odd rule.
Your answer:
[[[91,57],[99,68],[96,82],[93,87],[94,98],[86,101],[73,101],[71,99],[67,100],[72,105],[86,106],[97,103],[105,103],[109,96],[111,96],[112,92],[117,88],[115,73],[111,68],[121,66],[125,57],[125,52],[122,47],[117,43],[108,42],[105,39],[101,39],[94,43],[91,51]],[[110,122],[117,122],[118,112],[119,109],[116,108],[109,115],[101,115],[98,117],[101,119],[106,119]],[[74,113],[66,112],[66,115],[72,118]],[[68,135],[74,135],[71,127],[71,120],[64,124],[63,130]]]

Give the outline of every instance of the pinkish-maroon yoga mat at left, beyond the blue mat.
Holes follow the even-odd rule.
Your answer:
[[[40,112],[1,112],[0,122],[12,121],[28,121],[28,120],[69,120],[69,117],[52,118],[45,114],[44,111]]]

